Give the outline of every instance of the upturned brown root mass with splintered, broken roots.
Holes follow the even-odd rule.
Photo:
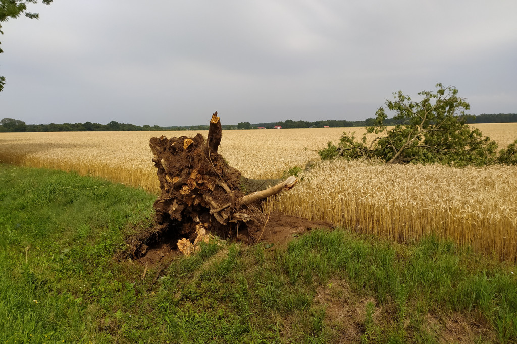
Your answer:
[[[248,230],[250,239],[260,236],[262,213],[255,205],[265,197],[291,189],[298,179],[290,177],[269,189],[249,195],[241,190],[241,173],[217,152],[221,143],[217,112],[210,119],[208,138],[153,137],[149,146],[160,181],[154,203],[157,225],[177,233],[178,238],[196,238],[196,226],[219,237],[234,230]],[[246,178],[245,178],[246,179]]]

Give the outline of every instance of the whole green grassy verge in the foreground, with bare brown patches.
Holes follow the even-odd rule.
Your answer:
[[[0,342],[517,342],[515,267],[434,237],[208,243],[144,279],[112,258],[155,197],[0,165]]]

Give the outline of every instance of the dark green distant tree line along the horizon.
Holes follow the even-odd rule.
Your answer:
[[[394,126],[396,124],[404,124],[404,118],[386,118],[384,120],[385,126]],[[477,116],[467,115],[467,123],[506,123],[517,122],[517,114],[481,114]],[[262,122],[254,123],[239,122],[235,124],[223,124],[222,129],[257,129],[264,127],[266,129],[273,129],[275,126],[282,126],[284,129],[290,128],[323,128],[323,127],[369,127],[374,126],[375,118],[370,117],[363,121],[346,121],[346,120],[320,120],[320,121],[294,121],[286,119],[279,122]],[[0,132],[36,132],[36,131],[146,131],[146,130],[208,130],[208,126],[137,126],[131,123],[119,123],[111,121],[107,124],[92,123],[86,121],[84,123],[50,123],[50,124],[25,124],[24,121],[13,118],[3,118],[0,120]]]

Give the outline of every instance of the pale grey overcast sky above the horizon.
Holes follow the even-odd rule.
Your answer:
[[[517,1],[28,4],[3,23],[0,118],[159,126],[373,117],[394,91],[455,86],[517,113]]]

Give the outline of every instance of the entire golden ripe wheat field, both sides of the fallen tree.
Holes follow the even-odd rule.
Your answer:
[[[499,148],[517,138],[517,123],[475,126]],[[354,130],[356,137],[362,134],[361,128],[226,130],[219,151],[249,178],[278,178],[313,162],[302,181],[270,200],[268,208],[397,240],[436,233],[477,252],[517,261],[517,167],[319,162],[317,150]],[[0,161],[74,170],[156,193],[149,138],[196,133],[0,133]],[[206,137],[206,131],[201,133]]]

